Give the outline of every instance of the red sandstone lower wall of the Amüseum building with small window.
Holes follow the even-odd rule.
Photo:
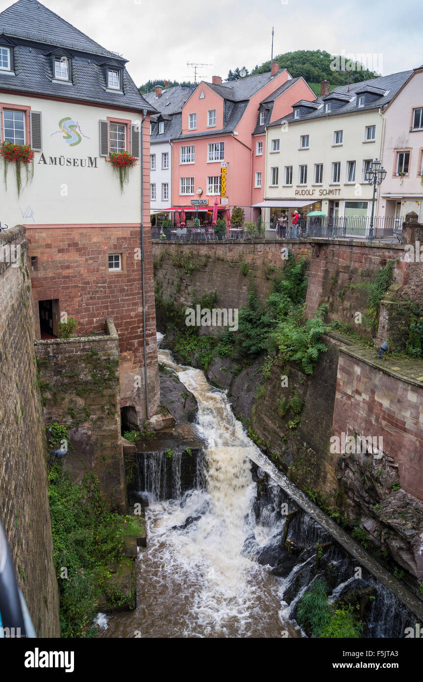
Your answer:
[[[38,259],[37,271],[31,271],[36,316],[38,301],[59,299],[60,311],[78,321],[78,334],[99,331],[111,316],[119,334],[121,406],[135,406],[145,419],[140,227],[37,226],[27,235],[29,255]],[[123,271],[108,271],[109,252],[122,254]],[[151,415],[159,402],[159,382],[150,228],[144,228],[144,276]],[[139,387],[134,386],[135,375],[140,376]]]

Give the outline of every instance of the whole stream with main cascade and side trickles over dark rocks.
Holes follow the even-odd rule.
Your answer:
[[[360,584],[373,586],[376,594],[364,636],[404,636],[405,627],[418,620],[415,614],[422,620],[422,602],[249,439],[225,391],[211,387],[202,370],[176,364],[170,351],[159,349],[159,362],[198,401],[195,429],[206,447],[196,462],[195,488],[185,493],[181,455],[173,460],[166,453],[144,456],[149,506],[147,546],[137,557],[138,606],[132,612],[99,614],[100,637],[304,637],[295,609],[309,584],[329,576],[333,601],[354,587],[357,566]],[[172,466],[174,499],[161,499],[159,481],[166,466]],[[267,481],[259,499],[257,477]],[[305,548],[299,556],[281,554],[282,505],[296,511],[287,537]],[[313,550],[317,542],[329,546],[321,569]]]

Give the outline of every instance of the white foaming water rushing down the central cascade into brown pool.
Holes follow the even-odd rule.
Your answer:
[[[225,393],[210,387],[201,370],[179,366],[169,351],[159,350],[159,362],[198,401],[195,428],[207,444],[206,487],[180,501],[151,501],[147,547],[138,554],[138,607],[110,616],[102,636],[301,636],[281,599],[285,581],[255,561],[283,530],[283,521],[255,523],[257,486],[249,457],[256,446]]]

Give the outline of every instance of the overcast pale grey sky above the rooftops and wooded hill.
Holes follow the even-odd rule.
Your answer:
[[[0,0],[0,10],[10,0]],[[129,59],[137,85],[188,80],[187,62],[210,63],[200,77],[225,78],[291,50],[376,55],[382,75],[423,63],[421,0],[45,0],[100,45]],[[379,57],[381,55],[381,57]],[[377,68],[379,65],[379,68]]]

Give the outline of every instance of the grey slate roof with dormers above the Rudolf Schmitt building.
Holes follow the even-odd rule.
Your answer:
[[[321,105],[321,108],[312,111],[309,114],[304,114],[297,119],[294,119],[293,115],[289,114],[288,116],[284,116],[283,118],[278,119],[277,121],[269,123],[267,127],[272,128],[272,126],[274,125],[280,125],[282,121],[300,123],[301,121],[308,121],[309,119],[316,119],[322,116],[339,116],[340,114],[349,114],[352,113],[353,111],[363,110],[365,111],[369,109],[384,108],[394,98],[398,90],[401,87],[403,87],[404,83],[406,82],[406,80],[408,80],[409,76],[411,76],[412,73],[413,73],[412,71],[401,71],[397,74],[390,74],[390,76],[380,76],[379,78],[371,78],[370,80],[366,80],[365,83],[367,85],[375,87],[376,89],[383,91],[383,93],[388,91],[388,93],[377,98],[377,100],[374,100],[373,102],[369,102],[368,104],[364,104],[364,106],[360,106],[360,108],[358,108],[356,98],[353,98],[353,95],[356,95],[356,93],[360,91],[360,89],[362,89],[364,81],[361,81],[360,83],[350,83],[349,89],[347,85],[340,85],[339,87],[336,87],[332,91],[330,91],[331,95],[332,93],[335,94],[340,93],[347,94],[348,96],[351,96],[351,98],[353,98],[352,102],[345,102],[343,106],[340,106],[334,111],[330,112],[324,111],[323,104],[324,101],[328,99],[328,95],[326,95],[325,98],[317,97],[315,100],[313,100],[313,104],[319,104],[319,106]]]

